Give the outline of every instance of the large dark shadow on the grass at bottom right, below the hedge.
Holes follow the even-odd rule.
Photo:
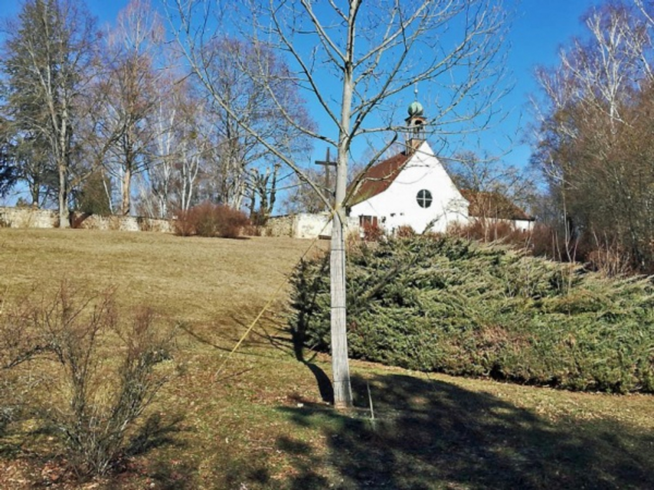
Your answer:
[[[359,405],[366,382],[353,378]],[[328,440],[325,461],[285,436],[294,489],[654,488],[654,436],[610,419],[553,423],[487,393],[410,376],[370,380],[370,412],[283,408]],[[365,401],[364,401],[365,400]],[[318,469],[321,468],[321,469]]]

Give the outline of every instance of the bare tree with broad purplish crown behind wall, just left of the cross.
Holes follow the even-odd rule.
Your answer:
[[[268,184],[274,180],[271,176],[279,168],[279,158],[269,147],[283,148],[292,157],[307,152],[307,137],[288,125],[286,117],[302,127],[314,124],[288,66],[270,48],[247,39],[218,37],[202,49],[204,76],[211,80],[211,91],[219,92],[229,107],[226,110],[209,95],[208,115],[215,122],[215,162],[206,169],[205,177],[213,180],[213,195],[208,197],[239,209],[246,197],[260,195],[261,178],[268,175]],[[203,84],[200,87],[207,91]],[[287,114],[279,111],[278,104]],[[269,193],[266,195],[264,200],[269,201]]]

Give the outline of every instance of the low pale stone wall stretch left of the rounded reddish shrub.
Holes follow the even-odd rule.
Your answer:
[[[56,228],[57,212],[48,209],[0,207],[0,227],[7,228]],[[135,216],[98,216],[96,214],[71,214],[71,227],[96,230],[160,231],[173,233],[169,220],[137,218]]]

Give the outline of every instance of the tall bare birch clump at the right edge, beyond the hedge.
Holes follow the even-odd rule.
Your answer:
[[[585,25],[587,42],[572,40],[559,66],[537,72],[545,98],[536,105],[532,162],[565,217],[566,243],[576,249],[580,237],[617,242],[646,270],[654,182],[645,137],[654,82],[651,24],[646,10],[618,2],[592,9]]]

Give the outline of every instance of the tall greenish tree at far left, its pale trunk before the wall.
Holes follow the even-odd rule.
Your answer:
[[[5,108],[18,134],[39,142],[39,152],[46,150],[46,155],[34,156],[46,157],[58,174],[60,227],[68,227],[71,171],[84,107],[78,102],[93,78],[94,20],[72,0],[28,0],[7,33]]]

